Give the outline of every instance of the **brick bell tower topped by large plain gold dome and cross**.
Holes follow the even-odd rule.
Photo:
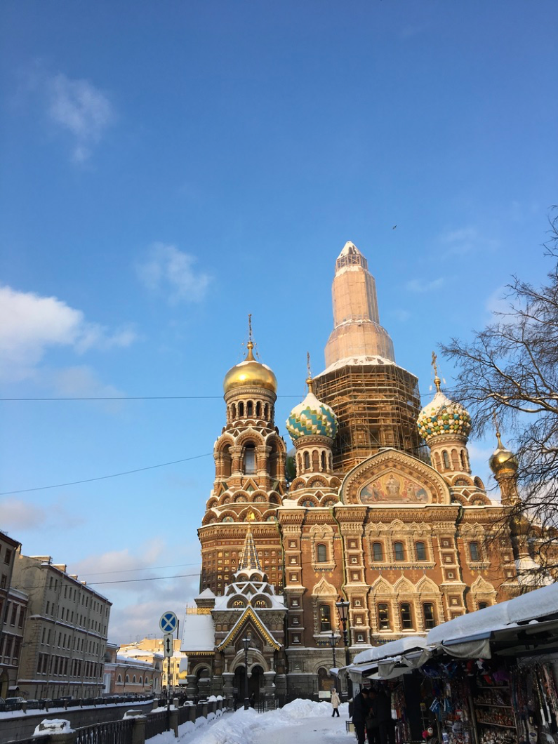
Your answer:
[[[286,445],[275,427],[277,379],[254,357],[250,315],[246,345],[245,359],[223,381],[225,426],[214,445],[214,487],[198,530],[200,589],[217,595],[234,581],[248,527],[269,583],[283,586],[275,520],[286,493]]]

